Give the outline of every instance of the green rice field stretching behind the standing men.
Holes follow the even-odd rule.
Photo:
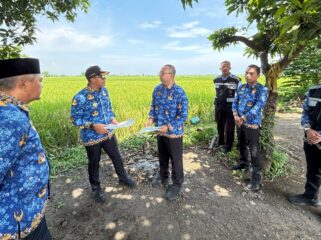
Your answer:
[[[214,121],[212,79],[211,75],[176,77],[176,83],[184,88],[189,99],[189,118],[198,116],[203,123]],[[157,84],[158,76],[108,77],[106,87],[117,120],[135,119],[132,127],[117,130],[120,142],[143,128],[149,113],[152,91]],[[31,119],[46,148],[79,144],[79,129],[71,124],[70,106],[72,97],[86,85],[87,80],[83,76],[44,79],[41,100],[31,104]]]

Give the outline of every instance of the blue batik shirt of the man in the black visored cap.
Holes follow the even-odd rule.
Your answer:
[[[80,137],[85,146],[107,140],[113,134],[113,130],[109,130],[108,134],[99,134],[90,127],[91,124],[107,125],[114,118],[115,114],[105,87],[97,91],[88,86],[78,92],[72,100],[71,119],[73,124],[81,129]]]

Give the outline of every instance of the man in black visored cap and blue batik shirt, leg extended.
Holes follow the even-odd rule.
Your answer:
[[[118,124],[108,90],[105,88],[106,75],[108,74],[109,72],[102,71],[98,66],[89,67],[85,72],[88,85],[74,96],[71,106],[73,124],[81,129],[81,140],[87,151],[89,182],[93,198],[99,203],[105,202],[99,181],[99,162],[102,149],[113,162],[119,184],[128,187],[136,185],[136,182],[126,173],[113,130],[106,129],[107,124]]]

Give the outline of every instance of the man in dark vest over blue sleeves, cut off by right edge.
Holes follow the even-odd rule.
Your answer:
[[[289,197],[300,206],[321,207],[321,84],[310,88],[303,103],[301,126],[304,128],[304,153],[307,162],[305,191]]]

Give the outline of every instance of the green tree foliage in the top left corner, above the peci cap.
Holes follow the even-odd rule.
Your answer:
[[[1,0],[0,2],[0,57],[6,58],[16,47],[36,41],[37,17],[42,15],[57,21],[63,15],[73,22],[80,9],[87,12],[89,0]]]

